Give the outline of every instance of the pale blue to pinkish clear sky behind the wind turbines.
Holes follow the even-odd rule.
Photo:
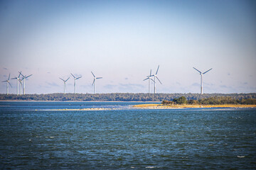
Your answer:
[[[70,73],[91,94],[91,72],[97,93],[147,93],[158,66],[156,93],[200,93],[193,67],[213,68],[204,93],[255,93],[255,1],[0,1],[0,81],[33,74],[26,94],[73,93]]]

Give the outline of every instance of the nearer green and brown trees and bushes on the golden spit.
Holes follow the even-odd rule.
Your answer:
[[[255,98],[235,98],[232,96],[215,96],[210,98],[200,98],[198,100],[193,100],[187,98],[185,96],[181,96],[179,98],[174,98],[171,101],[162,101],[164,105],[176,105],[176,104],[189,104],[189,105],[225,105],[225,104],[244,104],[244,105],[256,105]]]

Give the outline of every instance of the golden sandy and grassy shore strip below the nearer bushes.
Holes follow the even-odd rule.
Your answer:
[[[163,104],[140,104],[134,108],[166,109],[166,108],[256,108],[256,105],[163,105]]]

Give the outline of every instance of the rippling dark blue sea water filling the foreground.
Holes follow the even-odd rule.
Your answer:
[[[1,101],[0,169],[256,169],[256,108],[142,103]]]

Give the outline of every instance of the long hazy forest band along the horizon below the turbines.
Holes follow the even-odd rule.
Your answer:
[[[256,98],[251,94],[0,94],[0,101],[173,101],[180,97],[186,100],[208,102],[206,98],[230,97],[234,100]]]

